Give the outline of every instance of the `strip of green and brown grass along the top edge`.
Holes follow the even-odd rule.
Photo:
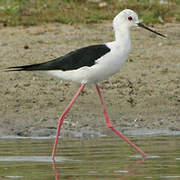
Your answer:
[[[180,21],[180,0],[0,0],[0,23],[99,23],[130,8],[146,24]]]

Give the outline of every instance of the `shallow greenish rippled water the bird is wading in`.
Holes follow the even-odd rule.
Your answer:
[[[60,139],[56,162],[54,139],[0,139],[0,179],[180,179],[179,135],[131,139],[146,159],[118,137]]]

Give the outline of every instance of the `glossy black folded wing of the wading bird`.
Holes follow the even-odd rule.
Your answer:
[[[92,45],[72,51],[65,56],[40,64],[16,66],[7,68],[8,71],[44,71],[44,70],[74,70],[83,66],[93,66],[95,61],[108,53],[110,48],[105,44]]]

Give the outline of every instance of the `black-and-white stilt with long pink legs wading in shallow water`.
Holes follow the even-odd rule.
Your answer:
[[[143,150],[136,146],[120,131],[114,128],[105,108],[104,100],[98,83],[118,73],[125,61],[128,59],[128,54],[130,53],[131,49],[130,31],[133,27],[144,28],[161,37],[166,36],[142,24],[138,19],[137,13],[131,9],[124,9],[120,11],[119,14],[114,17],[112,26],[115,34],[115,39],[112,42],[82,47],[69,52],[64,56],[39,64],[7,68],[7,71],[47,71],[49,74],[56,76],[61,80],[80,83],[80,88],[59,118],[56,138],[52,151],[53,160],[55,159],[63,120],[80,95],[81,91],[83,91],[85,86],[89,84],[95,85],[97,89],[106,126],[115,134],[120,136],[124,141],[130,144],[143,157],[147,156]]]

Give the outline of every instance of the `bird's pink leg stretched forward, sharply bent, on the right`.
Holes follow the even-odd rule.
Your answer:
[[[102,105],[102,109],[104,112],[104,118],[106,120],[106,126],[111,129],[114,133],[116,133],[118,136],[120,136],[124,141],[126,141],[128,144],[130,144],[133,148],[135,148],[138,152],[140,152],[144,157],[146,157],[146,154],[140,149],[138,148],[133,142],[131,142],[126,136],[124,136],[123,134],[121,134],[118,130],[116,130],[113,125],[111,124],[111,121],[109,119],[108,113],[106,111],[105,105],[104,105],[104,101],[103,101],[103,97],[101,95],[101,91],[99,86],[96,84],[96,89],[98,91],[98,95],[100,97],[100,101],[101,101],[101,105]]]

